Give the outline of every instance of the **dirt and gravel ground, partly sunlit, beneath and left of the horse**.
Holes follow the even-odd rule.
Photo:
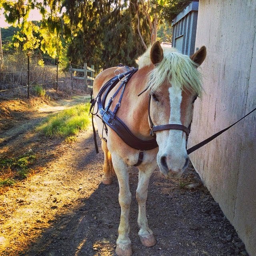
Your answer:
[[[104,158],[102,151],[95,153],[92,127],[80,132],[72,144],[34,131],[34,126],[49,113],[87,99],[88,95],[61,98],[54,104],[39,100],[0,101],[1,157],[31,151],[36,155],[28,178],[1,188],[1,256],[115,255],[120,218],[118,181],[114,178],[108,186],[101,183]],[[138,172],[133,168],[133,256],[248,255],[191,164],[180,180],[166,180],[159,170],[152,175],[147,215],[157,242],[150,248],[142,246],[136,223],[137,180]]]

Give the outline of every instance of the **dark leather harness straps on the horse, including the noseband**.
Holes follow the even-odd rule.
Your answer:
[[[98,153],[98,145],[96,141],[96,131],[94,128],[94,123],[93,123],[93,116],[96,115],[98,116],[103,124],[104,124],[104,130],[106,134],[108,134],[108,127],[110,127],[112,130],[118,134],[118,136],[131,148],[134,148],[136,150],[139,150],[139,158],[137,164],[134,166],[139,166],[142,163],[143,160],[143,152],[145,150],[152,150],[154,148],[158,147],[158,144],[156,142],[156,137],[154,136],[154,133],[156,131],[160,130],[182,130],[183,132],[186,133],[188,136],[190,130],[183,125],[180,124],[165,124],[165,125],[160,125],[160,126],[154,126],[151,118],[150,118],[150,100],[151,100],[151,94],[149,96],[149,102],[148,102],[148,118],[150,121],[150,135],[153,136],[151,140],[142,140],[138,137],[136,137],[132,132],[129,130],[129,128],[122,122],[118,116],[116,116],[116,113],[118,112],[118,109],[120,107],[122,97],[124,95],[124,90],[126,88],[126,85],[130,78],[132,77],[133,74],[135,74],[138,71],[138,68],[132,68],[132,70],[129,70],[126,73],[120,74],[119,70],[115,71],[115,77],[108,80],[104,86],[100,89],[98,92],[98,95],[96,98],[91,99],[91,108],[90,108],[90,113],[92,114],[92,126],[93,126],[93,132],[94,132],[94,143],[95,143],[95,148],[96,152]],[[116,74],[116,72],[119,72],[119,74]],[[122,80],[123,79],[123,80]],[[108,101],[108,104],[106,104],[106,98],[109,94],[109,92],[118,84],[118,82],[122,82],[116,92],[113,94],[112,97],[110,97],[110,100]],[[122,91],[121,91],[122,90]],[[113,99],[116,97],[116,95],[121,91],[120,98],[118,102],[116,103],[116,106],[113,111],[110,110],[110,106],[112,106]],[[98,103],[98,110],[96,113],[94,113],[94,106]],[[106,107],[105,107],[106,104]],[[98,115],[98,112],[100,115]],[[107,141],[106,138],[103,136],[103,130],[102,130],[102,137],[103,140]]]

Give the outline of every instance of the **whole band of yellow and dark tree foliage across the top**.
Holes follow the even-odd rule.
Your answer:
[[[163,24],[166,10],[170,6],[182,8],[189,2],[2,0],[0,8],[4,8],[6,20],[20,29],[14,36],[15,47],[58,56],[62,66],[68,66],[69,60],[80,66],[84,62],[94,64],[97,72],[119,62],[135,66],[134,60],[156,40],[157,27]],[[35,8],[42,14],[39,23],[27,20]],[[161,38],[165,38],[163,34]]]

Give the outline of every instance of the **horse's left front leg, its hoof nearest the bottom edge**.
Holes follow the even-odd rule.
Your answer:
[[[116,254],[118,256],[132,255],[131,241],[129,238],[129,212],[132,194],[129,187],[128,167],[119,156],[112,156],[112,163],[119,183],[119,204],[121,206],[121,217],[118,228],[118,239],[116,240]]]

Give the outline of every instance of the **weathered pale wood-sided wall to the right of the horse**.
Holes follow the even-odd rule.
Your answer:
[[[205,45],[204,95],[188,147],[256,106],[256,0],[200,0],[196,48]],[[256,113],[190,155],[212,196],[256,256]]]

